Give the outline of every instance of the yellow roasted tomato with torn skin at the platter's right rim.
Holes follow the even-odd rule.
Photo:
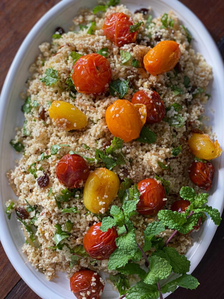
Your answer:
[[[197,158],[212,160],[222,154],[218,141],[212,141],[207,134],[193,133],[188,140],[193,155]]]

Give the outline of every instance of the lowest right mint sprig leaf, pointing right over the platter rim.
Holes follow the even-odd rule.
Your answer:
[[[163,294],[167,292],[174,292],[177,289],[177,286],[181,286],[182,288],[193,290],[196,289],[197,286],[199,286],[199,282],[194,276],[190,274],[183,274],[182,276],[165,284],[165,286],[162,286],[161,292]]]

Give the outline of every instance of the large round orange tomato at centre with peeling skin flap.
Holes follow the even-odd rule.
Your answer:
[[[128,142],[139,137],[146,120],[146,106],[116,100],[107,108],[105,117],[111,134]]]

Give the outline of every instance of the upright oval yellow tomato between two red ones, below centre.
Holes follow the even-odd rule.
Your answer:
[[[111,170],[96,168],[85,183],[83,203],[92,213],[103,213],[108,209],[119,188],[119,178]]]

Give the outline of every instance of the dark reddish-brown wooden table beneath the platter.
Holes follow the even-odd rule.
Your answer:
[[[0,89],[23,39],[36,21],[58,2],[57,0],[0,1]],[[224,36],[223,0],[181,0],[181,2],[201,19],[216,42]],[[210,247],[193,272],[200,281],[200,286],[194,291],[179,288],[169,296],[169,299],[223,299],[223,248],[224,221],[218,227]],[[0,299],[4,298],[40,299],[19,277],[0,244]]]

